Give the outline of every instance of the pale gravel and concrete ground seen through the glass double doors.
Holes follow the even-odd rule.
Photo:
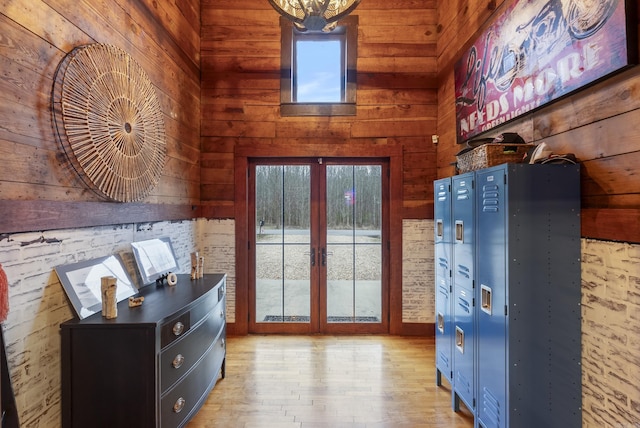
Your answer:
[[[284,238],[284,239],[283,239]],[[327,312],[333,319],[381,317],[380,238],[344,233],[327,238]],[[284,245],[283,245],[284,240]],[[258,235],[256,246],[256,317],[310,315],[309,236]],[[285,258],[283,266],[282,258]],[[355,253],[355,261],[353,254]],[[316,255],[316,263],[319,263]],[[355,272],[355,273],[354,273]],[[283,281],[282,278],[285,278]],[[357,281],[354,281],[353,278]],[[330,319],[331,319],[330,318]]]

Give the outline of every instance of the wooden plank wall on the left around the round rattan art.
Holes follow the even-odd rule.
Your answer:
[[[52,210],[75,212],[84,217],[79,223],[88,225],[99,224],[91,213],[104,210],[112,213],[104,220],[111,223],[129,211],[140,221],[191,218],[200,200],[199,0],[0,4],[0,232],[68,227],[68,219],[57,223],[41,215]],[[56,67],[74,47],[95,42],[118,46],[140,63],[164,113],[165,170],[142,204],[99,202],[54,138],[50,98]],[[158,215],[165,204],[172,208]]]

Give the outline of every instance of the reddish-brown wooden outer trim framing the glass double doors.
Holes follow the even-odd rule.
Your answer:
[[[249,333],[249,158],[389,159],[389,334],[402,332],[402,146],[359,144],[238,144],[234,153],[236,290],[232,333]]]

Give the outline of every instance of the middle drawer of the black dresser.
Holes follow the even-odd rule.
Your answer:
[[[189,334],[164,349],[160,356],[160,390],[184,376],[218,336],[225,320],[224,300],[194,326]]]

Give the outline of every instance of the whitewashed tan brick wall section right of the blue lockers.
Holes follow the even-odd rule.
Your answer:
[[[640,245],[582,241],[585,428],[640,427]]]

